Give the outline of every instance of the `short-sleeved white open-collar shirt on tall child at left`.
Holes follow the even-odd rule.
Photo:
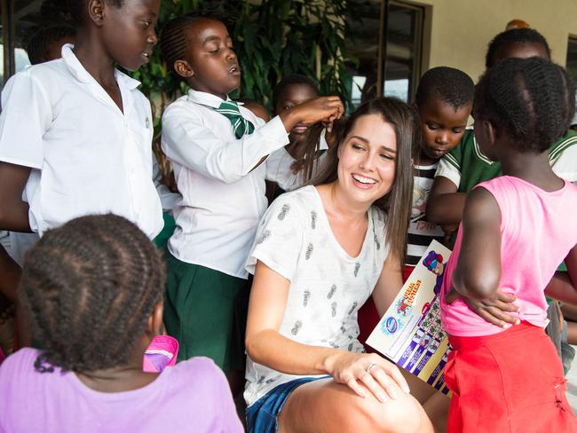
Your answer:
[[[2,92],[0,161],[32,168],[29,223],[42,235],[77,216],[114,213],[149,238],[162,230],[153,122],[138,81],[115,71],[123,112],[72,51],[28,67]]]

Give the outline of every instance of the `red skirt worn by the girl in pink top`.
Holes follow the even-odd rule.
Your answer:
[[[522,322],[496,335],[449,336],[449,432],[577,432],[557,351]]]

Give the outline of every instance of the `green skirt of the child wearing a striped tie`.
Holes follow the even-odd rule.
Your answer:
[[[164,326],[180,344],[178,361],[204,356],[225,374],[244,371],[249,281],[166,256]]]

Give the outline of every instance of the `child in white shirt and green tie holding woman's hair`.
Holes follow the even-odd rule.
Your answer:
[[[244,263],[265,212],[265,159],[297,123],[340,117],[338,97],[315,98],[263,122],[228,98],[241,70],[225,25],[186,14],[162,31],[162,55],[191,88],[162,116],[162,150],[182,202],[169,241],[165,325],[180,359],[213,358],[239,390],[249,295]],[[218,111],[220,110],[220,111]]]

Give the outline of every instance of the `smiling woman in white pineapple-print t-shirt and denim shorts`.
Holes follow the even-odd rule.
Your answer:
[[[399,369],[357,338],[368,296],[383,313],[402,285],[414,138],[405,103],[360,106],[319,177],[262,218],[247,263],[249,431],[432,431]]]

